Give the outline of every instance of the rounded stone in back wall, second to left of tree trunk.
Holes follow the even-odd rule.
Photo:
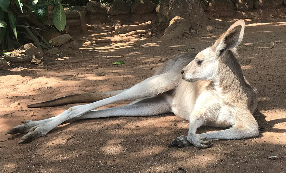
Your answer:
[[[108,7],[107,14],[110,15],[119,15],[119,14],[128,14],[130,13],[130,7],[123,0],[114,0],[110,7]]]

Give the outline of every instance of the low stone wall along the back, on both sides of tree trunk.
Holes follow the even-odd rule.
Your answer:
[[[208,17],[218,18],[269,18],[286,16],[286,0],[200,0]],[[115,0],[105,6],[90,1],[85,7],[73,6],[73,10],[87,11],[90,24],[142,23],[157,16],[157,5],[149,0]]]

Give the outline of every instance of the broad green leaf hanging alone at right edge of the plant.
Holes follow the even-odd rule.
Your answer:
[[[54,26],[59,31],[63,31],[64,28],[66,27],[66,14],[64,13],[64,7],[61,3],[54,6],[53,22]]]

